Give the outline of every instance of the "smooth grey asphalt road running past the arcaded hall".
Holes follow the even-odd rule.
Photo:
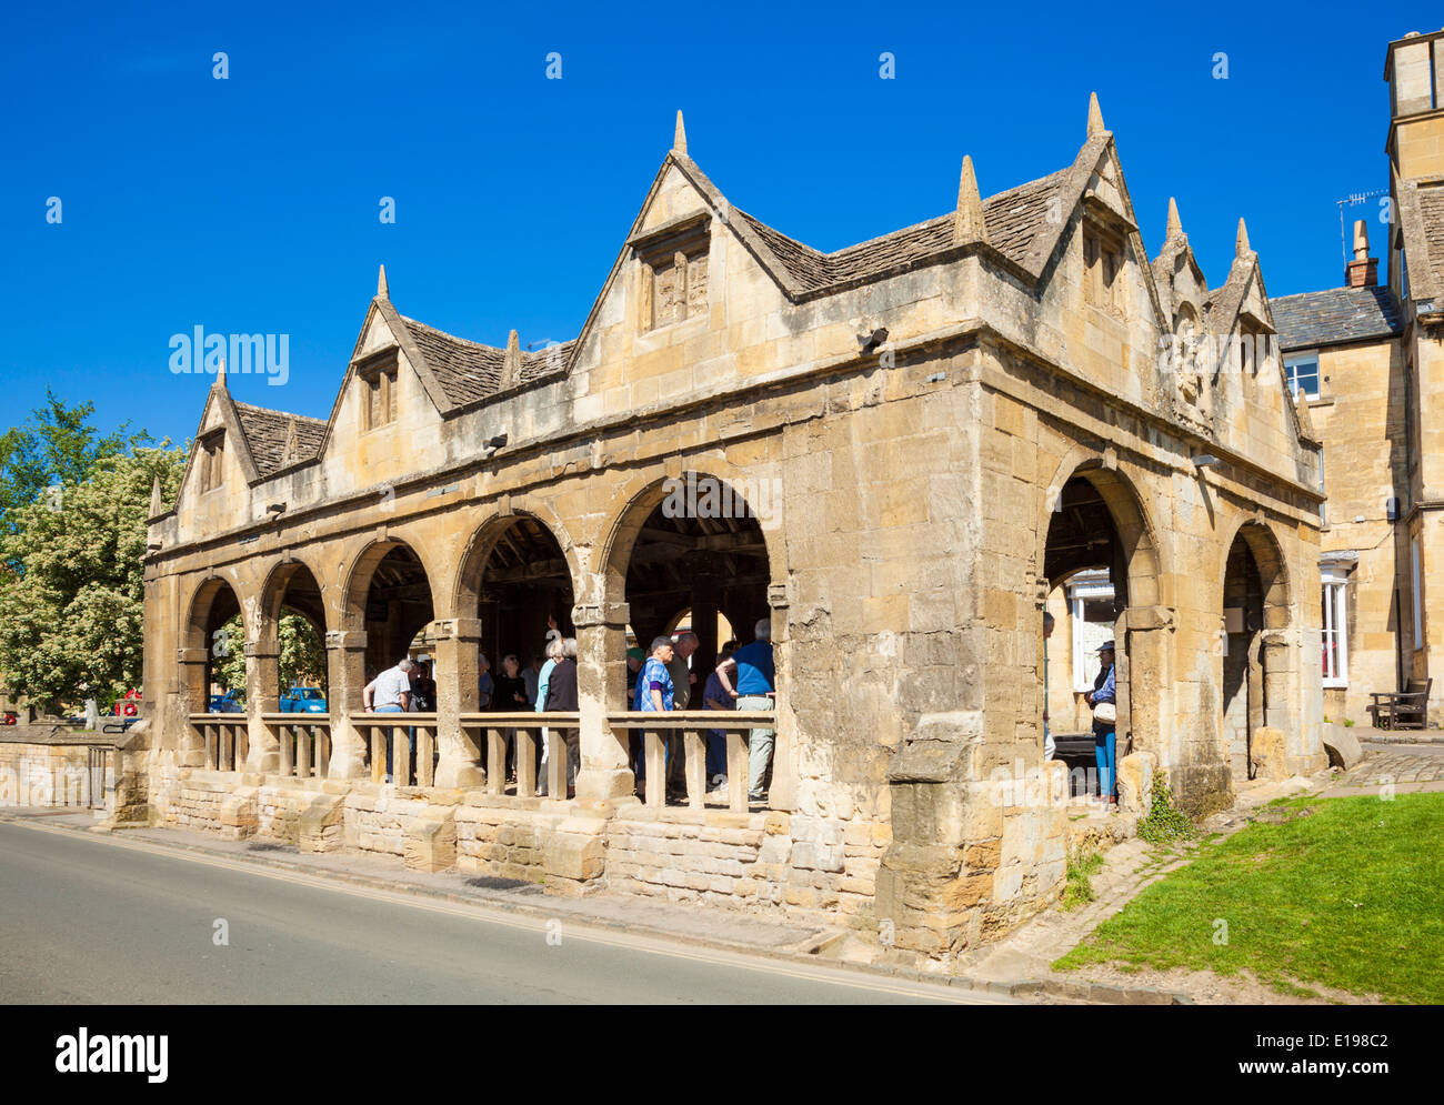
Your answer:
[[[219,946],[217,922],[230,943]],[[0,1002],[918,1002],[957,988],[0,822]],[[560,940],[557,942],[557,937]]]

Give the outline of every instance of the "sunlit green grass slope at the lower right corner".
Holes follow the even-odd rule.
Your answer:
[[[1144,890],[1054,966],[1248,969],[1444,1004],[1444,794],[1292,799]]]

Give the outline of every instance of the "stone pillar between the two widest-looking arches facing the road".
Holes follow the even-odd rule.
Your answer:
[[[601,591],[601,586],[598,588]],[[627,763],[627,732],[614,732],[606,712],[622,709],[627,696],[625,602],[576,607],[576,693],[580,712],[582,766],[576,796],[614,799],[637,786]]]

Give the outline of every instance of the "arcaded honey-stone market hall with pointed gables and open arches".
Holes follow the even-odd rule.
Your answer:
[[[723,198],[679,114],[619,237],[573,341],[443,334],[383,270],[329,417],[217,378],[150,520],[129,755],[153,822],[957,952],[1061,891],[1041,615],[1083,572],[1110,594],[1125,805],[1157,768],[1209,810],[1242,773],[1324,764],[1318,443],[1258,254],[1240,221],[1210,287],[1171,211],[1149,259],[1096,100],[1057,172],[983,198],[963,159],[956,209],[836,253]],[[326,714],[279,709],[282,610],[323,636]],[[540,718],[478,709],[478,653],[492,672],[539,653],[549,615],[578,640],[579,709],[550,721],[539,796]],[[767,802],[745,789],[757,719],[721,715],[728,787],[706,794],[690,709],[670,719],[686,797],[664,802],[647,737],[638,799],[628,628],[645,646],[690,618],[695,708],[718,615],[742,643],[771,623]],[[206,712],[225,647],[245,651],[244,714]],[[436,709],[397,731],[387,784],[394,715],[362,688],[417,653]],[[529,725],[508,783],[505,729]],[[1047,786],[999,784],[1022,777]]]

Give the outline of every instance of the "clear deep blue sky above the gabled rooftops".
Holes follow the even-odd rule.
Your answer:
[[[173,374],[169,342],[195,326],[289,334],[287,383],[232,391],[325,417],[380,261],[397,308],[452,334],[572,338],[679,107],[734,204],[835,250],[949,211],[963,153],[983,195],[1070,163],[1096,90],[1149,256],[1175,195],[1210,283],[1242,214],[1272,295],[1337,286],[1336,201],[1388,186],[1385,45],[1441,16],[1412,1],[1109,19],[1077,4],[196,7],[7,6],[3,426],[51,384],[107,429],[183,441],[211,377]],[[546,77],[552,52],[562,79]]]

